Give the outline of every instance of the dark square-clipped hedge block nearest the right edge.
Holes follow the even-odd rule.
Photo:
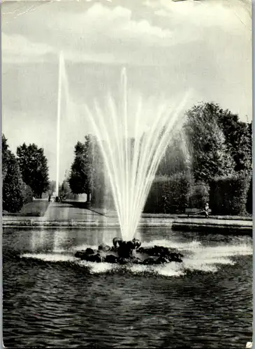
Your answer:
[[[249,181],[245,174],[214,178],[210,182],[212,214],[245,215]]]

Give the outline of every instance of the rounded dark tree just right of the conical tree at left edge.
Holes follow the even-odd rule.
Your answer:
[[[17,147],[17,158],[24,183],[29,185],[37,198],[47,191],[49,186],[48,161],[43,148],[36,144],[22,144]]]

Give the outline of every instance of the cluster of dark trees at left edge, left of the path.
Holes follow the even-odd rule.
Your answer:
[[[41,198],[48,189],[48,161],[42,148],[36,144],[17,147],[17,156],[10,151],[2,135],[3,210],[20,211],[22,206]]]

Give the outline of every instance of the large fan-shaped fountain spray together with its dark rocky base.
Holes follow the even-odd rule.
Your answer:
[[[175,107],[171,117],[167,103],[154,104],[156,109],[154,105],[151,106],[154,119],[146,132],[140,131],[143,124],[141,116],[147,115],[140,99],[134,119],[134,137],[131,138],[126,68],[122,69],[121,85],[120,112],[117,112],[117,105],[111,96],[107,98],[105,112],[97,101],[94,101],[94,110],[87,105],[85,108],[108,171],[122,239],[115,243],[115,238],[112,247],[100,245],[97,250],[87,248],[86,251],[79,251],[75,257],[90,262],[120,264],[182,262],[182,255],[177,251],[162,246],[140,247],[140,242],[134,236],[159,162],[169,144],[170,132],[173,133],[182,125],[179,117],[188,94]]]

